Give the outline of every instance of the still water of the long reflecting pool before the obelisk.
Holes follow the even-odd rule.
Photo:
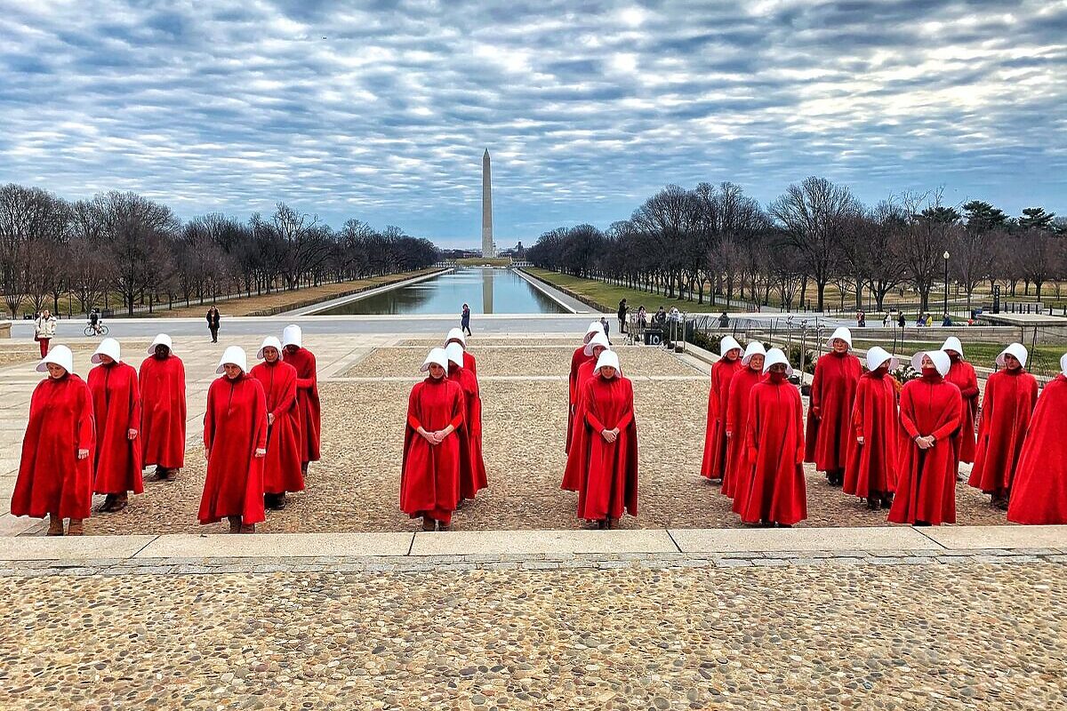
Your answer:
[[[367,296],[321,316],[375,313],[569,313],[526,279],[505,269],[458,269],[400,289]]]

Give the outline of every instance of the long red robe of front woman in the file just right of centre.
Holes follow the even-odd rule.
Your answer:
[[[634,422],[634,386],[622,375],[611,379],[593,376],[579,398],[578,429],[573,453],[578,472],[578,518],[599,521],[637,516],[637,424]],[[604,430],[619,429],[608,442]]]

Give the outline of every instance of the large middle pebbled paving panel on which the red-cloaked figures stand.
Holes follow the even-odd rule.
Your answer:
[[[637,518],[624,528],[739,527],[719,487],[699,476],[707,385],[702,381],[634,384],[640,442]],[[409,531],[416,528],[398,510],[407,383],[324,383],[323,462],[312,465],[307,489],[289,497],[282,512],[268,514],[268,533],[319,531]],[[572,529],[576,495],[562,491],[566,383],[482,383],[484,454],[490,488],[467,502],[457,529]],[[682,413],[691,416],[681,417]],[[191,433],[200,437],[200,433]],[[200,527],[203,450],[187,455],[173,483],[146,483],[120,514],[94,515],[89,534],[216,531]],[[957,486],[958,521],[1003,524],[1003,512],[964,484]],[[854,497],[808,471],[809,519],[803,526],[886,526],[886,513],[871,513]]]

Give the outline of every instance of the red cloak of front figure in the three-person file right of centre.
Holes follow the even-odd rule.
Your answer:
[[[786,379],[757,383],[748,395],[748,491],[734,499],[746,523],[793,526],[808,518],[803,480],[803,403]]]

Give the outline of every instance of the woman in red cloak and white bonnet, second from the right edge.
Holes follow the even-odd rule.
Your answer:
[[[1025,370],[1028,355],[1022,343],[1012,343],[997,356],[1000,370],[986,381],[978,450],[968,482],[990,495],[992,504],[1004,511],[1030,416],[1037,404],[1037,379]]]

